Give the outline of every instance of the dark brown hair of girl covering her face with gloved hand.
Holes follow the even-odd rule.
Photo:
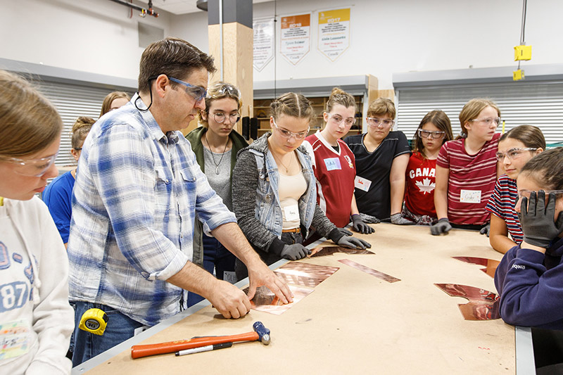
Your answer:
[[[545,190],[563,190],[563,147],[543,151],[522,167]]]

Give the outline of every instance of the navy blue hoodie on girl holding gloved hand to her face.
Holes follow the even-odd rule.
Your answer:
[[[563,329],[563,239],[545,255],[514,246],[495,272],[500,316],[508,324]]]

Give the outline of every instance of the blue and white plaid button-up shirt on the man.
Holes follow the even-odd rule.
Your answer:
[[[82,148],[68,242],[70,300],[101,303],[152,326],[179,312],[165,280],[191,260],[194,221],[206,234],[236,222],[210,188],[189,141],[164,134],[129,103],[104,115]],[[141,100],[137,106],[146,108]]]

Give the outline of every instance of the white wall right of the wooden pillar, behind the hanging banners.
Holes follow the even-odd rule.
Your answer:
[[[517,64],[513,48],[520,39],[521,0],[284,0],[276,6],[279,16],[312,12],[311,51],[298,65],[278,55],[276,71],[273,61],[262,72],[254,70],[255,82],[372,74],[379,89],[391,89],[393,72]],[[332,63],[317,51],[318,11],[348,6],[350,49]],[[561,0],[528,1],[529,64],[563,62],[562,13]],[[255,4],[254,18],[273,15],[273,2]],[[279,35],[279,22],[277,27]]]

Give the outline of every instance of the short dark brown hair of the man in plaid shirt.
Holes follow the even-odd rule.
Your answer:
[[[143,51],[139,63],[139,92],[148,93],[150,79],[158,75],[185,80],[193,70],[201,68],[215,72],[213,58],[184,39],[166,38],[153,42]],[[170,84],[177,85],[175,82]]]

